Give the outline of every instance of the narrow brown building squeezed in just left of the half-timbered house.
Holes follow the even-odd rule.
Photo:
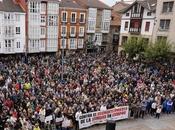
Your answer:
[[[121,28],[121,11],[127,8],[129,4],[124,1],[116,2],[112,6],[111,14],[111,25],[110,25],[110,49],[113,51],[118,51],[119,39],[120,39],[120,28]]]

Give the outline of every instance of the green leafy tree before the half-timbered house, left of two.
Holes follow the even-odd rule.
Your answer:
[[[123,48],[125,52],[129,55],[129,58],[133,58],[136,55],[140,55],[147,48],[148,42],[142,37],[130,37],[124,43]]]

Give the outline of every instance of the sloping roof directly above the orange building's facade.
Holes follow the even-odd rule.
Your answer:
[[[83,8],[75,0],[61,0],[60,7]]]

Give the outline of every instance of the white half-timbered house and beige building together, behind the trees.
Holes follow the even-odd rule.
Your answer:
[[[148,43],[166,39],[172,44],[172,51],[175,51],[174,3],[175,0],[136,0],[131,5],[124,2],[114,5],[112,16],[120,22],[117,25],[116,22],[111,24],[119,27],[116,32],[111,31],[111,35],[119,51],[129,37],[142,37]],[[121,10],[117,12],[116,8]]]

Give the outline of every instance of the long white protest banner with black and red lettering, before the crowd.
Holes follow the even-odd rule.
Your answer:
[[[79,128],[82,129],[95,124],[103,124],[106,123],[108,120],[117,121],[127,119],[128,114],[128,106],[116,107],[113,109],[108,109],[106,111],[97,111],[82,114],[78,119]]]

